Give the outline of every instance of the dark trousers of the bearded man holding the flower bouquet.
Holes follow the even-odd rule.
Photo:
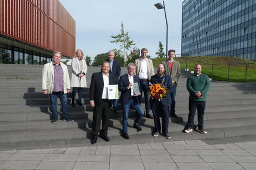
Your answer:
[[[162,133],[168,133],[169,125],[169,106],[163,106],[161,102],[151,102],[151,109],[153,112],[155,132],[161,132],[160,115],[162,117]]]

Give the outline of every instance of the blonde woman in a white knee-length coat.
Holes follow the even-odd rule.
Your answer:
[[[75,53],[75,57],[72,59],[72,74],[71,74],[71,81],[70,86],[73,87],[72,89],[72,106],[75,107],[75,100],[76,93],[78,92],[78,105],[82,106],[83,103],[81,101],[83,95],[83,88],[86,88],[86,73],[87,73],[87,65],[86,61],[83,59],[84,53],[81,49],[77,49]]]

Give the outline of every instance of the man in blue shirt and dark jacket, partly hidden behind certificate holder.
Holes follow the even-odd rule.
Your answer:
[[[120,63],[118,60],[114,60],[115,57],[115,52],[113,50],[110,50],[108,52],[108,59],[106,59],[107,62],[109,62],[110,64],[110,70],[109,70],[109,74],[115,76],[117,79],[119,79],[119,76],[121,74],[121,67],[120,67]],[[117,105],[118,105],[118,99],[114,99],[113,101],[113,111],[116,112],[117,110]]]

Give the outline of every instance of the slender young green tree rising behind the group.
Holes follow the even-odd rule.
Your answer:
[[[118,35],[111,35],[113,41],[111,43],[118,44],[120,43],[120,48],[123,49],[123,58],[124,58],[124,65],[126,66],[126,56],[128,50],[131,48],[132,45],[135,45],[132,40],[130,40],[129,32],[125,32],[125,28],[123,26],[123,22],[121,22],[121,34]]]

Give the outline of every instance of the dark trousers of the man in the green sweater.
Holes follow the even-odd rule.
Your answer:
[[[198,129],[204,128],[204,110],[205,101],[194,102],[189,101],[189,118],[187,120],[187,128],[193,129],[195,111],[197,110]]]

